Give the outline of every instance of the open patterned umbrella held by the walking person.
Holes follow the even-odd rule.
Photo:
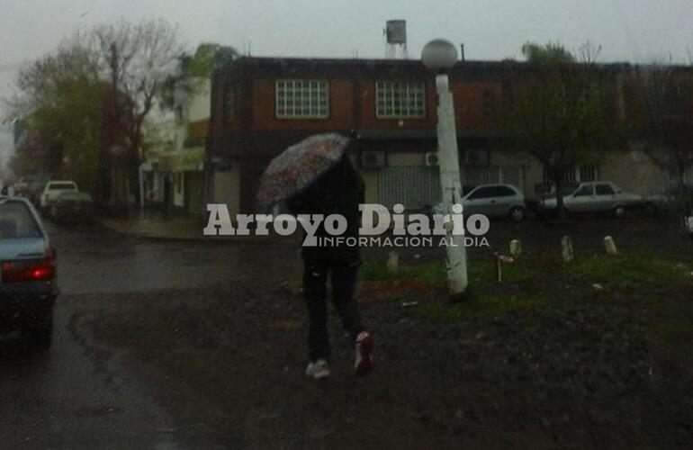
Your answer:
[[[269,210],[277,202],[293,197],[337,165],[349,139],[336,133],[317,134],[286,148],[275,157],[260,178],[257,202]]]

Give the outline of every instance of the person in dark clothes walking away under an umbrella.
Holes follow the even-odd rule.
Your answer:
[[[357,375],[369,374],[374,368],[374,338],[365,330],[354,299],[356,276],[361,265],[358,246],[349,246],[344,240],[358,239],[360,226],[359,204],[364,202],[364,182],[345,153],[315,183],[288,199],[294,215],[339,214],[347,220],[347,231],[336,245],[302,247],[303,294],[310,321],[308,347],[310,363],[306,374],[316,380],[329,378],[329,333],[327,327],[327,282],[330,277],[332,302],[342,325],[356,350],[354,368]],[[324,222],[315,233],[316,238],[332,236]],[[353,239],[352,239],[353,240]]]

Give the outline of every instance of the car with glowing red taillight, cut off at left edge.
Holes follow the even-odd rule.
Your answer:
[[[55,250],[28,199],[0,196],[0,333],[50,347],[58,296]]]

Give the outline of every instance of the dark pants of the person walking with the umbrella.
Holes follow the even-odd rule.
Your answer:
[[[311,321],[308,332],[309,356],[311,361],[329,361],[328,275],[332,275],[332,302],[342,325],[354,343],[358,334],[364,330],[358,304],[354,299],[356,274],[360,263],[344,262],[329,257],[304,257],[303,264],[303,294]]]

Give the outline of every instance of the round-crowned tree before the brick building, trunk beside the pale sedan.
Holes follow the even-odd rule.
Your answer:
[[[562,46],[527,43],[528,71],[512,112],[519,148],[545,166],[564,217],[564,175],[618,144],[617,84],[587,44],[580,58]]]

